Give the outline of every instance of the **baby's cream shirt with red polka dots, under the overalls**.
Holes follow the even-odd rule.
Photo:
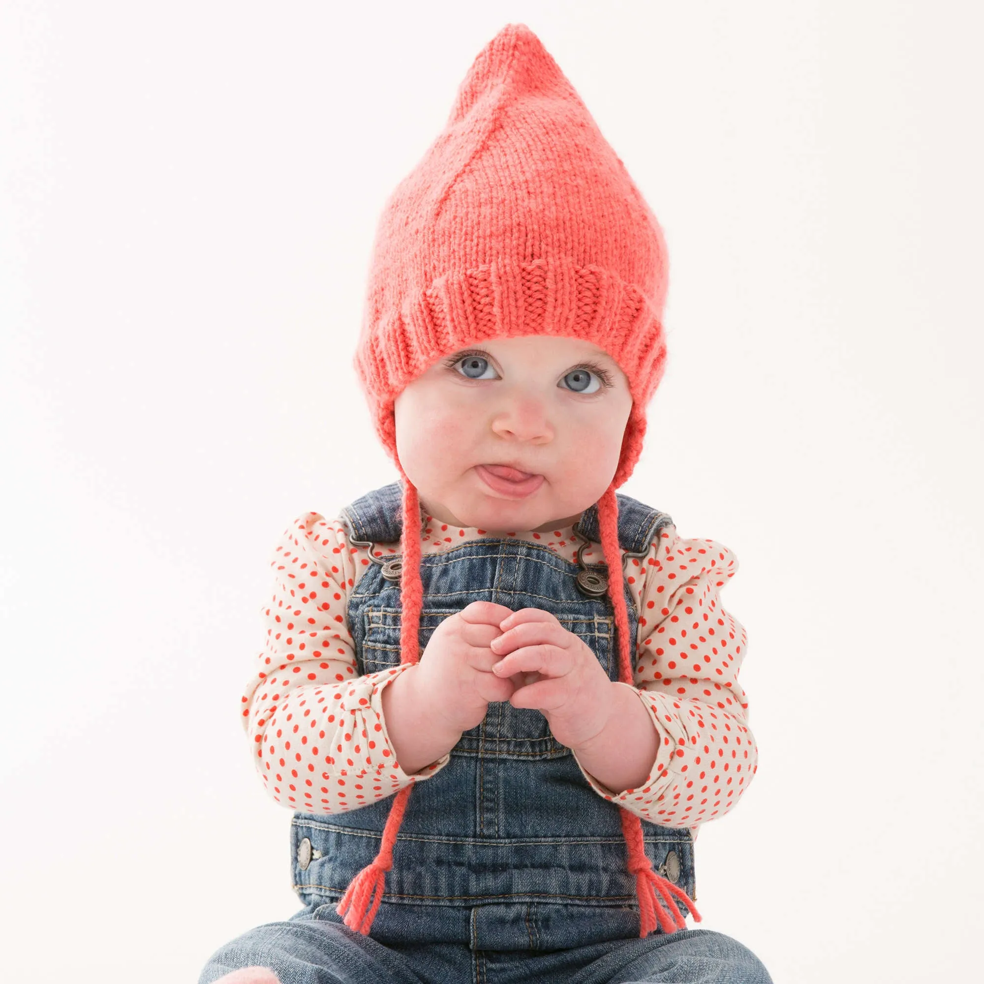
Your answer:
[[[486,535],[474,526],[426,521],[423,554]],[[507,535],[574,563],[582,542],[572,525]],[[400,544],[377,543],[375,550],[389,556]],[[587,563],[598,559],[600,545],[584,550]],[[367,547],[348,544],[340,519],[328,522],[320,513],[298,517],[277,544],[274,592],[263,606],[264,651],[242,695],[241,720],[267,791],[291,810],[356,810],[451,761],[445,755],[414,776],[400,769],[382,692],[408,665],[357,675],[346,612],[371,563]],[[689,827],[695,838],[701,824],[735,806],[758,764],[738,683],[746,632],[719,597],[737,570],[727,547],[683,538],[673,525],[660,530],[646,556],[630,560],[626,582],[640,612],[635,684],[660,750],[638,789],[613,793],[582,769],[599,796],[654,824]]]

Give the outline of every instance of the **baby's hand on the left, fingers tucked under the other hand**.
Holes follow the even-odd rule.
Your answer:
[[[433,701],[432,712],[441,726],[457,734],[480,724],[492,701],[508,701],[522,684],[499,677],[492,667],[499,654],[489,643],[501,636],[499,623],[513,614],[492,601],[472,601],[449,615],[431,636],[414,671],[420,692]]]

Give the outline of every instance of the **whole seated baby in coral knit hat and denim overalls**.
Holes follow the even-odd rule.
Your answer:
[[[400,480],[277,546],[242,722],[305,907],[199,984],[770,982],[684,914],[700,827],[757,763],[737,559],[616,492],[666,271],[622,161],[507,25],[377,230],[355,370]]]

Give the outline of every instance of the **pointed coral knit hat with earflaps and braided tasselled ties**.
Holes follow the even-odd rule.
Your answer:
[[[615,490],[639,460],[646,404],[665,368],[666,280],[662,230],[625,165],[539,38],[508,24],[478,53],[444,130],[383,209],[355,352],[376,432],[402,476],[402,663],[419,659],[423,587],[420,503],[397,453],[394,401],[439,358],[483,338],[553,335],[603,348],[630,384],[621,456],[597,516],[620,679],[633,684]],[[345,925],[363,934],[412,789],[394,797],[378,856],[338,903]],[[623,810],[621,819],[640,936],[657,918],[664,933],[686,928],[673,895],[701,921],[686,892],[652,870],[639,818]]]

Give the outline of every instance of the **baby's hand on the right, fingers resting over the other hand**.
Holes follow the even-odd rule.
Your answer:
[[[541,608],[512,612],[500,628],[503,635],[491,640],[490,648],[503,658],[492,675],[536,677],[509,703],[541,710],[554,738],[568,748],[599,734],[614,709],[615,693],[590,646]]]

